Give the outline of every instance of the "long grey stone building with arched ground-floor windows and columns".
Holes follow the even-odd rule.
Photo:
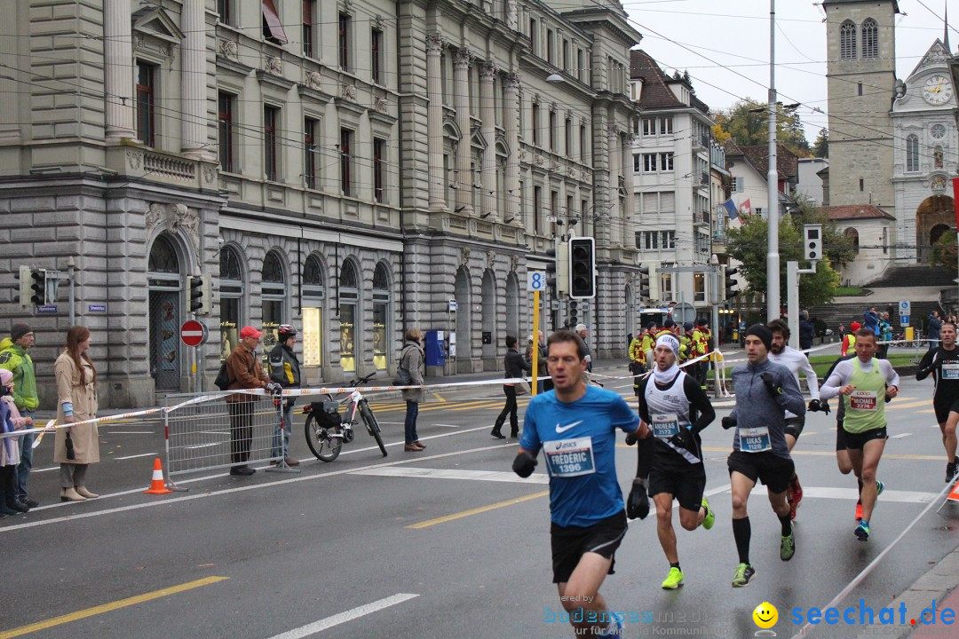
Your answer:
[[[596,237],[594,352],[623,353],[628,310],[599,312],[633,307],[639,266],[619,3],[0,10],[2,268],[76,265],[102,405],[209,388],[246,324],[300,327],[308,382],[389,376],[412,326],[443,332],[437,370],[496,370],[529,331],[527,271],[571,233]],[[199,350],[177,340],[190,275],[213,283]],[[31,316],[7,290],[49,399],[64,296]],[[547,294],[546,327],[563,305]]]

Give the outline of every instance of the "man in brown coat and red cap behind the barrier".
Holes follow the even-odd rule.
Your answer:
[[[240,330],[240,343],[226,358],[226,372],[232,382],[227,390],[265,388],[272,392],[276,385],[269,380],[260,365],[256,347],[263,336],[251,326]],[[253,440],[253,406],[255,395],[234,393],[226,396],[226,407],[230,415],[230,468],[231,475],[251,475],[256,470],[249,468],[249,448]]]

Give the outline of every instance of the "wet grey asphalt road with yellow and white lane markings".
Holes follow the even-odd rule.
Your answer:
[[[607,387],[631,392],[627,381]],[[930,393],[905,381],[889,406],[894,439],[879,467],[887,488],[868,543],[853,536],[855,485],[835,469],[833,416],[811,417],[796,451],[806,489],[796,557],[780,561],[778,522],[758,491],[750,501],[758,575],[742,589],[730,587],[731,435],[717,419],[704,432],[716,525],[678,530],[687,582],[667,592],[655,520],[631,522],[617,574],[603,588],[610,605],[649,619],[629,624],[626,636],[753,636],[751,613],[763,601],[779,608],[778,635],[792,636],[792,608],[826,605],[943,488]],[[509,472],[515,442],[488,435],[502,396],[496,387],[473,396],[488,399],[448,392],[423,406],[422,453],[402,450],[400,402],[380,401],[386,459],[363,433],[322,464],[309,457],[297,422],[292,452],[304,460],[301,474],[196,473],[183,482],[190,491],[165,496],[141,493],[149,455],[162,449],[156,422],[104,428],[104,461],[89,480],[104,496],[82,504],[52,503],[57,472],[44,443],[33,489],[47,505],[0,522],[8,586],[0,639],[570,636],[565,624],[546,621],[557,598],[545,475]],[[719,417],[728,414],[729,401],[717,405]],[[628,487],[634,449],[620,445],[617,461]],[[959,545],[957,518],[959,506],[927,513],[842,606],[860,598],[888,605]],[[819,626],[807,636],[862,631]]]

